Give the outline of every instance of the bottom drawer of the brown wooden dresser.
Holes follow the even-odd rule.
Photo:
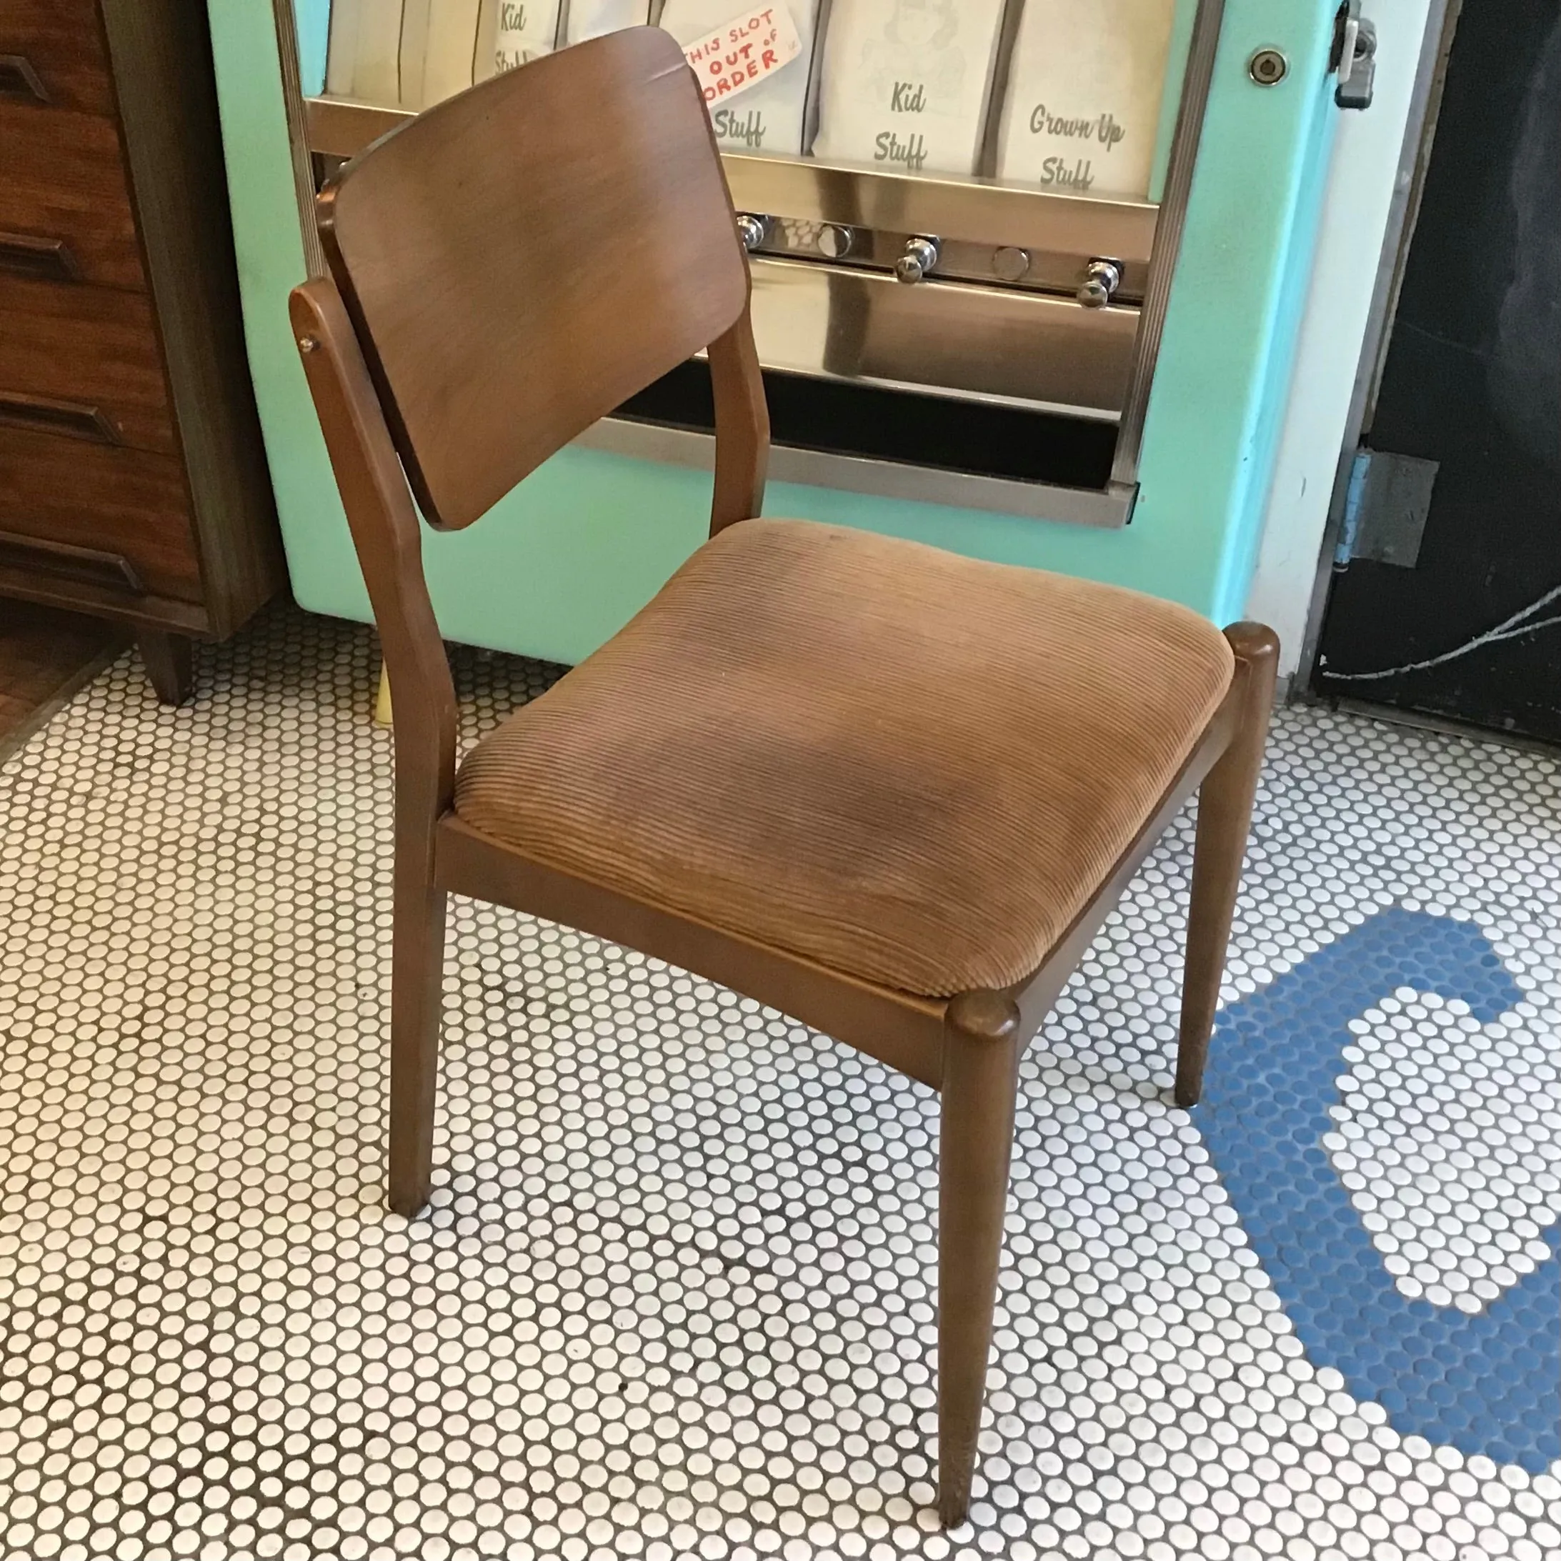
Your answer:
[[[0,565],[117,588],[126,606],[200,601],[178,460],[0,425]]]

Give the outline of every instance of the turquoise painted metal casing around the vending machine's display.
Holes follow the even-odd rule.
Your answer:
[[[300,0],[306,58],[326,6]],[[304,275],[270,9],[209,0],[245,329],[293,592],[312,610],[368,604],[303,372],[287,292]],[[1119,532],[773,485],[768,514],[916,537],[980,557],[1111,581],[1227,621],[1252,571],[1335,111],[1330,0],[1229,0],[1171,311],[1149,407],[1143,496]],[[1258,87],[1246,61],[1283,48]],[[311,67],[312,69],[312,67]],[[426,537],[448,638],[578,660],[704,535],[709,478],[565,451],[459,535]]]

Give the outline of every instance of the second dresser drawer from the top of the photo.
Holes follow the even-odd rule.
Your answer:
[[[0,272],[145,287],[112,120],[0,100]],[[62,248],[41,262],[37,245]]]

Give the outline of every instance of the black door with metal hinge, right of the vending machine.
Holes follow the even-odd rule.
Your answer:
[[[1314,690],[1561,741],[1553,0],[1463,6],[1363,445]]]

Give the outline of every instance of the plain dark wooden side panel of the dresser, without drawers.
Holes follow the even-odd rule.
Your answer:
[[[286,568],[244,345],[206,5],[101,5],[206,606],[222,635],[281,590]]]

